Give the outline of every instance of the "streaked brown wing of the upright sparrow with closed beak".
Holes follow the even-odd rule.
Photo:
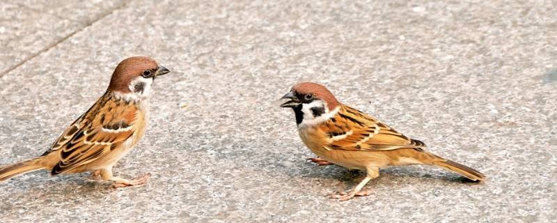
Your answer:
[[[60,152],[60,162],[52,174],[61,174],[106,155],[132,137],[138,112],[135,106],[120,106],[121,101],[101,98],[56,140],[52,149]]]

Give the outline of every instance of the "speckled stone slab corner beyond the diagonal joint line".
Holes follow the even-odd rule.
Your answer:
[[[0,75],[123,6],[123,0],[0,3]]]

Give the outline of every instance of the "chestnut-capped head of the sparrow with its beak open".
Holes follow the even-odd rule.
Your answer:
[[[288,99],[281,107],[291,107],[296,114],[298,127],[310,126],[332,118],[340,107],[331,91],[311,82],[303,82],[292,86],[283,98]]]

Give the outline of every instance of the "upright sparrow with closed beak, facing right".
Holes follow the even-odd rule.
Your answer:
[[[146,183],[150,174],[135,180],[113,176],[112,167],[145,134],[149,120],[148,98],[156,77],[170,72],[146,56],[121,61],[107,91],[61,134],[45,153],[0,168],[0,182],[31,171],[50,174],[93,172],[113,187]]]

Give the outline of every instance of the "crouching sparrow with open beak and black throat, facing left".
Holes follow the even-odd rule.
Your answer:
[[[331,198],[346,201],[367,196],[362,188],[379,176],[379,168],[425,164],[455,171],[473,181],[485,176],[463,164],[447,160],[425,150],[422,141],[397,132],[368,114],[339,102],[320,84],[303,82],[286,93],[281,107],[294,110],[298,133],[304,144],[318,157],[318,165],[338,164],[366,171],[366,178],[349,192],[335,192]]]

